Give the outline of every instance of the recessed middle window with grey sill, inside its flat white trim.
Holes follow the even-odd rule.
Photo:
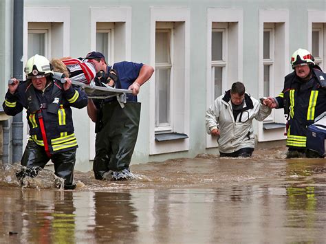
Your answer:
[[[176,91],[174,53],[180,23],[156,22],[155,29],[155,140],[184,140],[188,138],[180,126],[180,122],[175,121]],[[180,39],[180,38],[179,38]],[[175,43],[175,44],[174,44]],[[177,74],[177,73],[176,73]],[[168,134],[169,133],[169,134]],[[162,135],[164,134],[164,135]]]

